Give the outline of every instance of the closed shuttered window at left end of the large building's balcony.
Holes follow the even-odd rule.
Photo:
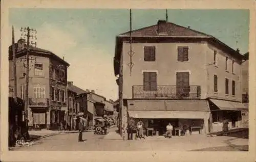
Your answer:
[[[157,73],[156,72],[144,72],[143,73],[144,91],[156,91],[157,90]]]

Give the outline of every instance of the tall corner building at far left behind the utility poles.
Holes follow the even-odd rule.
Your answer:
[[[26,53],[25,40],[15,43],[17,95],[25,99]],[[67,68],[69,64],[51,51],[30,47],[29,68],[29,127],[56,129],[67,119]],[[9,47],[9,89],[13,90],[12,48]],[[13,91],[9,92],[13,96]]]

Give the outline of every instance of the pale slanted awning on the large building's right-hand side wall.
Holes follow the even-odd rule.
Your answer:
[[[242,102],[225,101],[219,99],[210,99],[220,110],[227,111],[248,111]]]

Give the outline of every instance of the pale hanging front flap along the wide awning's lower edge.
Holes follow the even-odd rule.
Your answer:
[[[129,116],[139,119],[208,119],[209,112],[188,111],[129,111]]]

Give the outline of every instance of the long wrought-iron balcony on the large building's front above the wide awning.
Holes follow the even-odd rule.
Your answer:
[[[200,99],[201,86],[157,86],[145,91],[144,86],[133,86],[134,99]]]

